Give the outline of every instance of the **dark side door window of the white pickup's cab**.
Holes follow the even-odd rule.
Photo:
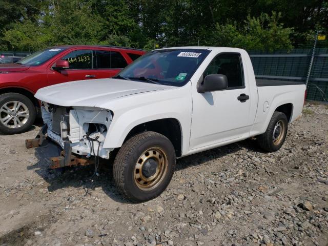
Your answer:
[[[209,74],[224,74],[228,78],[228,87],[244,85],[240,54],[221,54],[216,56],[204,72]]]

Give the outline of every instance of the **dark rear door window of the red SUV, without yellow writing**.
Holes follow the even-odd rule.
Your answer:
[[[97,68],[125,68],[127,61],[119,52],[96,50]]]

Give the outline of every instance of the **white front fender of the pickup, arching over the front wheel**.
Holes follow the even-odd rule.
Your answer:
[[[104,148],[121,147],[129,132],[142,123],[175,118],[183,136],[182,153],[188,152],[192,115],[191,83],[170,90],[122,97],[108,108],[114,112],[114,117]]]

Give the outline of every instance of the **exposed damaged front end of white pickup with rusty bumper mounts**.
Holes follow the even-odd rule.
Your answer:
[[[26,148],[41,145],[45,138],[59,145],[63,151],[60,156],[49,158],[50,168],[85,166],[98,157],[109,159],[113,149],[105,149],[103,144],[113,119],[110,110],[63,107],[45,102],[41,110],[45,125],[35,139],[26,139]]]

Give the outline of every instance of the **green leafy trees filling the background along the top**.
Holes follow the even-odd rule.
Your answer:
[[[328,32],[328,0],[2,0],[0,49],[106,44],[291,49]],[[283,25],[282,25],[283,23]]]

